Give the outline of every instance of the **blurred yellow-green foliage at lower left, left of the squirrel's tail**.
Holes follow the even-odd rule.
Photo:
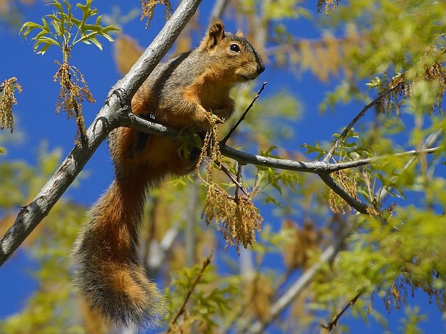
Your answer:
[[[60,150],[47,152],[45,147],[40,150],[37,166],[23,161],[1,161],[1,231],[13,223],[17,205],[32,200],[60,161]],[[72,317],[77,305],[70,283],[69,254],[85,212],[82,205],[59,200],[43,224],[26,239],[24,250],[36,263],[27,271],[37,287],[22,312],[0,321],[1,333],[84,333]]]

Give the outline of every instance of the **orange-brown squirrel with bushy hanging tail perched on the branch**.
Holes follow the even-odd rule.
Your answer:
[[[264,70],[243,33],[226,32],[215,19],[199,47],[155,67],[132,98],[132,112],[176,129],[206,132],[211,113],[222,120],[233,114],[231,88]],[[112,130],[108,141],[115,178],[79,232],[72,251],[73,283],[91,312],[109,324],[156,324],[165,312],[164,296],[137,256],[146,191],[191,173],[199,154],[190,150],[185,157],[180,141],[127,127]]]

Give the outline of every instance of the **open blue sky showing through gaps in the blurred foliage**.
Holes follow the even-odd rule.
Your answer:
[[[122,8],[122,13],[128,13],[130,9],[139,6],[139,1],[96,0],[93,2],[100,13],[110,13],[112,4],[118,4]],[[208,22],[212,5],[213,1],[204,0],[200,7],[198,15],[200,22],[205,22],[203,23],[204,26]],[[342,5],[343,3],[341,3]],[[309,6],[316,5],[311,3]],[[26,6],[23,8],[24,19],[36,22],[49,12],[49,8],[43,6],[40,1],[31,8]],[[316,12],[316,8],[311,9],[312,12]],[[323,14],[315,14],[316,19],[322,16]],[[144,29],[145,22],[140,22],[139,18],[134,19],[125,25],[124,31],[137,38],[140,45],[148,45],[160,30],[163,17],[164,13],[162,11],[156,12],[153,24],[148,30]],[[17,130],[24,134],[24,138],[22,143],[14,144],[14,141],[18,138],[17,135],[4,134],[8,139],[8,143],[4,144],[8,149],[6,159],[21,159],[35,163],[38,157],[38,149],[44,141],[47,143],[49,150],[61,148],[62,155],[65,157],[72,149],[75,122],[67,121],[64,114],[56,116],[54,113],[59,86],[53,82],[52,78],[57,70],[54,60],[61,59],[60,50],[50,48],[45,56],[37,55],[33,52],[31,40],[18,38],[17,29],[11,30],[10,27],[4,25],[0,26],[0,29],[2,49],[0,52],[0,80],[17,77],[23,88],[23,93],[17,96],[19,104],[15,106],[15,117],[17,119]],[[226,29],[234,30],[233,21],[226,22]],[[314,38],[319,33],[314,25],[306,19],[293,22],[292,29],[302,38]],[[195,44],[197,44],[199,38],[201,38],[201,35],[195,36]],[[82,70],[97,101],[95,104],[84,104],[86,125],[91,123],[95,113],[107,97],[107,92],[120,77],[114,64],[111,43],[106,40],[102,40],[102,42],[103,51],[95,47],[80,45],[72,53],[72,64]],[[302,102],[302,117],[295,125],[296,136],[293,143],[290,143],[294,148],[299,148],[303,143],[328,140],[331,134],[339,132],[362,108],[362,104],[341,105],[337,107],[335,113],[328,112],[321,115],[318,112],[318,104],[323,100],[325,91],[332,88],[333,84],[318,81],[307,73],[296,76],[291,71],[277,69],[267,63],[266,71],[258,81],[259,87],[261,81],[268,81],[264,93],[265,97],[286,90],[295,93],[298,100]],[[257,103],[261,103],[261,100]],[[312,125],[317,125],[317,127]],[[314,131],[315,128],[317,128],[317,131]],[[5,137],[2,136],[1,138]],[[0,143],[0,145],[3,146],[3,143]],[[112,163],[105,143],[94,154],[85,170],[88,173],[87,181],[71,187],[65,196],[84,205],[91,205],[112,180]],[[15,257],[0,268],[0,286],[3,287],[2,298],[0,299],[0,317],[6,317],[20,310],[26,297],[36,287],[28,275],[33,266],[35,264],[19,250]],[[424,312],[428,312],[429,321],[422,324],[425,333],[446,333],[442,315],[436,310],[435,305],[428,303],[424,294],[415,292],[415,299],[409,299],[409,301],[420,305]],[[383,310],[380,301],[377,300],[375,305],[378,310]],[[392,312],[389,317],[391,332],[388,333],[400,333],[399,319],[402,315],[403,310]],[[344,321],[351,324],[352,333],[386,333],[383,328],[377,326],[373,321],[371,325],[364,325],[362,319],[353,319],[349,312],[341,318],[341,322]]]

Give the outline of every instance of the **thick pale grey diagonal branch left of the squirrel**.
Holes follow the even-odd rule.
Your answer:
[[[162,56],[167,53],[200,3],[201,0],[183,0],[180,3],[141,58],[114,87],[86,132],[88,145],[84,148],[75,146],[36,198],[20,210],[13,226],[0,239],[0,266],[47,216],[49,210],[75,180],[100,143],[105,140],[107,134],[112,129],[123,125],[134,93],[160,62]]]

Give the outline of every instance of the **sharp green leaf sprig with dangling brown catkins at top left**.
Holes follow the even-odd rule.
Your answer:
[[[54,81],[59,80],[61,89],[59,100],[56,103],[56,112],[62,109],[68,114],[68,118],[75,118],[77,123],[76,143],[86,145],[84,116],[82,115],[82,102],[84,99],[95,102],[91,95],[84,76],[74,66],[68,64],[72,48],[79,42],[87,45],[95,45],[102,50],[102,45],[98,36],[102,36],[113,41],[110,35],[113,31],[118,31],[114,26],[101,26],[102,15],[98,15],[96,8],[91,8],[93,0],[86,0],[86,3],[77,3],[76,7],[82,11],[82,18],[76,18],[72,13],[72,6],[68,0],[53,0],[49,6],[54,8],[52,14],[42,18],[42,24],[36,22],[25,22],[20,29],[20,33],[26,38],[30,33],[36,31],[34,40],[34,51],[38,54],[45,54],[52,45],[59,47],[63,54],[62,63],[59,70],[54,75]],[[95,23],[89,23],[91,18],[98,15]],[[83,86],[79,86],[79,80]]]

